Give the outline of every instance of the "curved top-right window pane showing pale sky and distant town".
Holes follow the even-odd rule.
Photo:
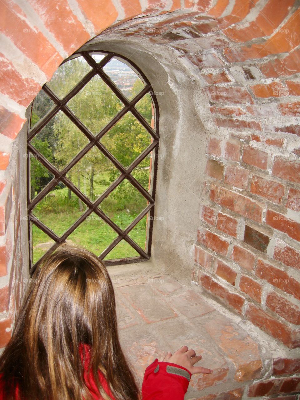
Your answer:
[[[145,86],[134,70],[116,58],[105,64],[103,70],[129,100]]]

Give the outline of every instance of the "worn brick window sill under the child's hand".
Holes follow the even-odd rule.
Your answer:
[[[110,276],[120,341],[140,383],[155,358],[162,360],[167,351],[186,345],[202,355],[197,365],[214,372],[193,375],[185,399],[241,399],[246,384],[266,379],[272,358],[284,356],[282,346],[257,328],[251,337],[240,317],[222,312],[197,286],[184,286],[167,275],[138,274],[138,265],[134,268],[135,275],[127,270],[127,277]]]

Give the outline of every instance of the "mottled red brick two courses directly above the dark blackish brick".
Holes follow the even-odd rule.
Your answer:
[[[278,182],[264,179],[258,175],[252,176],[251,193],[265,197],[274,203],[281,203],[284,189],[284,186]]]

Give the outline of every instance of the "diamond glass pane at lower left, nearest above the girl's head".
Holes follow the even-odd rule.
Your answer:
[[[86,205],[62,182],[33,209],[33,214],[56,235],[62,236],[86,210]]]

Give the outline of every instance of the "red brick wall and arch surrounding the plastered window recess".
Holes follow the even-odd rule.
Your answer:
[[[126,21],[120,35],[176,51],[202,82],[215,127],[206,143],[199,230],[191,232],[194,281],[286,346],[299,346],[297,2],[6,0],[1,8],[0,346],[9,339],[28,268],[18,175],[26,132],[17,136],[25,110],[62,60]]]

